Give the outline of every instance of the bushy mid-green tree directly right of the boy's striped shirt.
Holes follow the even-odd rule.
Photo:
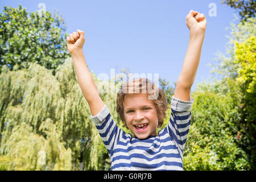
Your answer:
[[[230,84],[234,84],[230,80]],[[191,129],[184,148],[185,170],[246,170],[246,152],[237,144],[234,125],[241,116],[232,92],[214,93],[212,84],[197,86],[192,94]]]

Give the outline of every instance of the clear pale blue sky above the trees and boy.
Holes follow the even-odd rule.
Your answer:
[[[19,4],[36,11],[39,3],[44,3],[47,11],[58,10],[63,15],[68,34],[85,31],[85,60],[96,75],[110,77],[110,69],[118,73],[126,68],[130,73],[158,73],[171,85],[180,75],[187,52],[185,17],[191,9],[204,13],[207,30],[192,91],[197,83],[210,78],[207,64],[213,63],[216,52],[225,53],[230,33],[226,27],[230,27],[233,14],[238,14],[221,0],[11,0],[1,1],[0,11],[3,6]],[[209,16],[210,3],[216,4],[217,16]]]

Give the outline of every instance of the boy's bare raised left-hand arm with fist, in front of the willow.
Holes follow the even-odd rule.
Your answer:
[[[97,115],[104,107],[104,102],[98,94],[97,87],[93,81],[92,75],[85,62],[82,46],[84,46],[84,32],[77,30],[67,37],[68,51],[72,56],[73,64],[76,70],[77,80],[84,94],[85,100],[88,102],[92,115]]]

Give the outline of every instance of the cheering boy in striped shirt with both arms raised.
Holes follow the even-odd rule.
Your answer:
[[[98,94],[82,53],[84,32],[77,30],[67,37],[79,85],[108,150],[112,170],[183,170],[183,150],[193,105],[190,92],[200,61],[207,20],[204,14],[191,10],[186,23],[190,30],[189,46],[172,97],[171,117],[166,128],[156,134],[165,117],[166,98],[162,90],[149,80],[138,78],[128,82],[117,94],[117,112],[135,137],[119,129]],[[157,91],[158,98],[148,99],[148,89]],[[135,90],[139,92],[134,93]]]

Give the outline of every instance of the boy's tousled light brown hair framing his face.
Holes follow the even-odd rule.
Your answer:
[[[158,127],[162,127],[163,120],[166,118],[167,101],[163,90],[152,84],[147,78],[135,78],[134,80],[122,85],[117,93],[117,113],[123,123],[125,122],[125,114],[123,113],[123,101],[127,94],[146,93],[148,98],[152,100],[158,113]],[[157,97],[155,97],[155,95]]]

